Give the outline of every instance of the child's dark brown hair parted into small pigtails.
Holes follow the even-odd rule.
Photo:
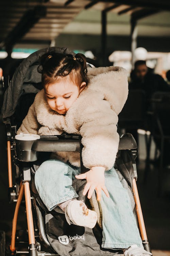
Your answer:
[[[70,79],[79,88],[82,82],[88,83],[86,57],[78,53],[75,56],[71,54],[60,54],[48,52],[41,56],[38,72],[42,74],[42,84],[51,84],[60,77],[70,75]]]

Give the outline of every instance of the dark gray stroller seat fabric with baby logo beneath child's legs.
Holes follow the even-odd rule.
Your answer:
[[[38,166],[34,166],[36,171]],[[128,194],[131,199],[132,210],[135,212],[135,202],[133,198],[133,193],[122,176],[121,172],[116,169],[119,176],[119,180],[122,186],[127,189]],[[40,197],[37,195],[36,199],[40,207],[45,212],[45,225],[46,234],[48,241],[55,252],[61,256],[103,256],[103,255],[115,255],[118,250],[114,249],[103,249],[101,248],[102,243],[102,210],[99,209],[99,204],[96,199],[95,193],[93,193],[91,200],[87,200],[86,196],[83,196],[84,186],[86,184],[85,180],[73,180],[72,186],[77,191],[79,195],[78,200],[82,200],[87,204],[87,207],[91,210],[95,210],[98,215],[97,225],[93,228],[84,228],[76,225],[69,225],[66,221],[64,212],[56,206],[51,212],[47,210]],[[126,209],[125,209],[126,210]],[[121,252],[121,250],[119,251]]]

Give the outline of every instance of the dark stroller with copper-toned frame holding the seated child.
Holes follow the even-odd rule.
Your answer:
[[[75,55],[67,48],[49,47],[41,49],[28,58],[24,59],[15,71],[13,78],[6,88],[2,107],[3,122],[6,126],[7,136],[7,157],[8,157],[8,178],[9,178],[9,200],[16,202],[12,225],[11,244],[6,250],[6,255],[26,255],[30,256],[55,256],[55,255],[115,255],[122,253],[121,250],[101,248],[102,227],[97,224],[91,231],[79,229],[82,227],[69,226],[65,215],[61,212],[48,212],[43,202],[40,200],[34,184],[34,174],[39,159],[48,158],[48,154],[56,151],[79,151],[81,172],[87,171],[83,166],[81,152],[81,137],[77,134],[64,133],[60,136],[41,136],[40,139],[17,140],[16,131],[20,127],[23,118],[27,115],[30,105],[34,101],[36,93],[42,89],[41,75],[37,72],[39,57],[49,51]],[[90,64],[89,64],[90,66]],[[127,133],[120,137],[119,149],[115,163],[115,169],[119,173],[122,185],[132,195],[132,205],[134,214],[137,217],[143,246],[150,251],[149,242],[142,217],[139,196],[137,192],[136,180],[137,170],[135,158],[137,145],[132,134]],[[13,164],[12,164],[13,162]],[[15,182],[12,176],[15,174]],[[75,184],[81,192],[83,182]],[[78,188],[79,187],[79,188]],[[132,192],[133,191],[133,192]],[[81,194],[81,193],[80,193]],[[95,193],[94,193],[95,194]],[[96,198],[93,196],[90,202],[91,209],[95,209]],[[27,224],[28,224],[28,249],[19,251],[22,243],[17,245],[16,226],[20,204],[26,205]],[[88,200],[86,203],[89,204]],[[136,204],[136,208],[134,207]],[[100,218],[100,209],[98,209]],[[77,229],[78,228],[78,229]],[[72,229],[72,230],[71,230]],[[79,233],[80,231],[80,233]],[[84,237],[88,243],[84,243]],[[68,244],[69,239],[69,245]],[[151,251],[150,251],[151,252]],[[4,253],[5,255],[5,253]]]

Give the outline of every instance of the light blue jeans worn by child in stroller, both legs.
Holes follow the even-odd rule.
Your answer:
[[[56,159],[47,160],[40,165],[35,172],[35,186],[49,211],[59,203],[78,197],[72,187],[72,179],[77,174],[80,174],[80,168],[71,167]],[[130,197],[114,167],[105,171],[105,185],[110,197],[107,198],[102,191],[102,247],[128,248],[132,244],[143,247]]]

